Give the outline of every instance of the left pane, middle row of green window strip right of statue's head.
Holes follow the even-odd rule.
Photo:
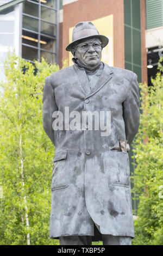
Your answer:
[[[131,62],[131,28],[124,26],[125,59]]]

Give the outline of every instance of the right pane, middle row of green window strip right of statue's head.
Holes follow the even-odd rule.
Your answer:
[[[141,32],[133,29],[133,62],[141,66]]]

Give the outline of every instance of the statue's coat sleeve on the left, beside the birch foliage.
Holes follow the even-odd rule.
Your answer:
[[[43,129],[47,133],[48,137],[54,144],[54,130],[52,127],[54,118],[52,118],[52,114],[54,111],[58,111],[57,104],[55,102],[54,91],[50,82],[50,78],[46,77],[45,86],[43,88]]]

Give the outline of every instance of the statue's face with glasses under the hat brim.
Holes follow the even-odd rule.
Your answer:
[[[96,68],[101,62],[102,44],[99,39],[85,39],[78,44],[73,52],[74,58],[78,59],[80,64],[88,68]]]

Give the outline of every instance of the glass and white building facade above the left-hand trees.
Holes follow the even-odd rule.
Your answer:
[[[58,47],[59,0],[23,1],[0,12],[1,76],[8,50],[31,62],[44,57],[48,63],[58,63]]]

